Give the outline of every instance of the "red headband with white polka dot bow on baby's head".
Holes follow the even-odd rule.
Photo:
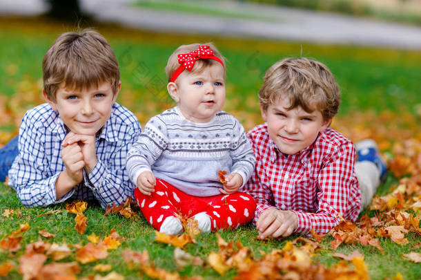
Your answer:
[[[196,60],[199,59],[213,59],[222,64],[222,66],[224,66],[222,60],[213,55],[213,50],[209,48],[209,46],[202,45],[199,46],[197,50],[193,50],[193,52],[178,55],[178,63],[181,65],[179,66],[179,68],[177,68],[177,70],[171,77],[171,82],[175,82],[177,77],[184,71],[184,69],[191,71],[193,69],[193,66],[195,66]]]

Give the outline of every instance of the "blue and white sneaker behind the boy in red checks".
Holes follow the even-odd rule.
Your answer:
[[[386,162],[384,162],[380,151],[373,139],[364,139],[355,143],[358,161],[368,160],[375,164],[380,171],[380,181],[384,182],[387,176]]]

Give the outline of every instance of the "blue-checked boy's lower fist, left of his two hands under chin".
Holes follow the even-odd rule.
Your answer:
[[[63,142],[66,142],[66,139],[71,136],[66,136]],[[69,185],[75,186],[84,179],[84,174],[82,173],[82,168],[85,166],[84,154],[82,149],[77,143],[67,144],[66,147],[61,149],[61,159],[66,166],[66,181]],[[67,185],[67,184],[66,184]]]

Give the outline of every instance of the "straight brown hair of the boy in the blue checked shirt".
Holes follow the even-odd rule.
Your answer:
[[[43,88],[55,101],[61,86],[81,91],[110,82],[117,93],[120,71],[108,41],[94,30],[65,32],[47,50],[42,62]]]

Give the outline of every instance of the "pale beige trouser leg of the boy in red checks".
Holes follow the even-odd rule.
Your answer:
[[[371,199],[380,185],[380,171],[373,162],[355,162],[355,174],[361,189],[361,211],[371,203]]]

